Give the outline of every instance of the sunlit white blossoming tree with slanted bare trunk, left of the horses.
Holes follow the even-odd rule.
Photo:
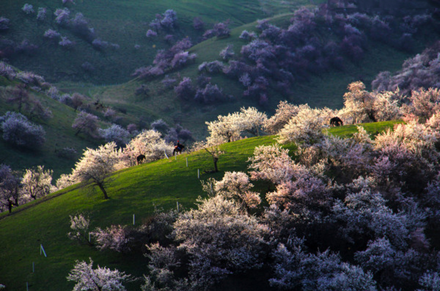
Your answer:
[[[119,163],[120,152],[116,148],[114,142],[100,145],[97,149],[87,148],[75,164],[72,178],[79,182],[91,181],[101,189],[104,199],[109,199],[105,185],[109,174],[116,170]]]

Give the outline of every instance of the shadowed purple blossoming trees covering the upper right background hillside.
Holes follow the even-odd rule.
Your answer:
[[[407,16],[398,20],[392,16],[369,16],[361,13],[340,14],[327,5],[319,8],[303,8],[295,12],[288,27],[278,27],[267,20],[258,21],[254,31],[244,30],[240,39],[245,42],[240,54],[227,45],[220,51],[220,59],[202,62],[198,66],[199,78],[183,77],[175,85],[178,99],[194,100],[201,104],[212,104],[228,100],[216,84],[210,83],[206,75],[224,74],[240,82],[243,97],[266,104],[269,92],[291,94],[292,85],[308,80],[309,76],[330,70],[344,70],[348,62],[357,63],[369,49],[369,42],[382,42],[398,50],[412,51],[415,35],[423,28],[434,28],[436,20],[431,15]],[[206,31],[205,37],[227,37],[228,21],[217,23],[214,29]],[[224,28],[224,29],[223,29]],[[223,32],[225,30],[225,32]],[[316,37],[320,35],[321,37]],[[395,90],[397,86],[407,94],[420,86],[438,86],[436,68],[439,45],[426,53],[409,60],[395,77],[382,72],[375,80],[375,89]],[[154,64],[170,63],[173,55],[160,52]],[[187,52],[176,55],[178,64],[193,60]],[[195,57],[195,55],[194,55]],[[168,61],[167,61],[168,59]],[[164,74],[164,67],[150,66],[136,71],[139,76]],[[173,65],[166,68],[173,69]],[[200,79],[208,79],[200,82]],[[183,92],[183,93],[182,93]]]

